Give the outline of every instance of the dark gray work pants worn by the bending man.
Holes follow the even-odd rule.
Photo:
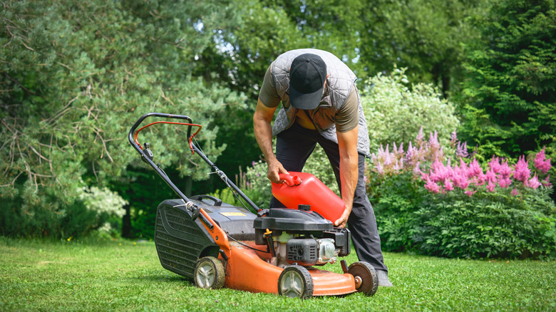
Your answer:
[[[326,152],[334,175],[336,175],[336,182],[341,189],[340,182],[340,151],[338,144],[326,140],[316,130],[303,128],[302,126],[294,123],[290,128],[280,132],[277,135],[276,143],[276,157],[282,163],[284,168],[288,171],[302,172],[305,162],[309,155],[319,143]],[[381,251],[381,241],[379,231],[376,228],[376,219],[374,211],[369,202],[369,197],[366,194],[365,182],[365,156],[359,154],[359,180],[357,180],[357,187],[354,194],[354,206],[351,209],[347,226],[351,232],[351,239],[354,242],[355,251],[359,261],[366,261],[374,269],[381,271],[388,271]],[[310,172],[309,172],[310,173]],[[271,208],[284,207],[284,205],[277,199],[272,197],[270,201]],[[336,220],[332,220],[334,222]]]

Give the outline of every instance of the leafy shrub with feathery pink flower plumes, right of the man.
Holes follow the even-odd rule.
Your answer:
[[[530,166],[532,162],[532,167]],[[544,148],[515,165],[483,166],[453,133],[379,148],[368,168],[369,194],[383,248],[451,257],[556,258],[556,208]]]

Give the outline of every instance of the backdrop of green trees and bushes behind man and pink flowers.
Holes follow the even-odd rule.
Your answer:
[[[112,234],[121,227],[123,236],[152,235],[155,207],[174,195],[126,140],[151,111],[203,125],[198,139],[207,156],[264,204],[265,166],[248,168],[260,154],[252,112],[267,66],[293,48],[331,51],[356,72],[374,147],[406,142],[421,125],[446,142],[458,127],[480,161],[494,154],[515,163],[542,146],[555,159],[554,1],[0,5],[3,235],[67,238],[106,224]],[[183,129],[141,134],[186,194],[230,196],[190,157]],[[320,150],[306,170],[336,188]]]

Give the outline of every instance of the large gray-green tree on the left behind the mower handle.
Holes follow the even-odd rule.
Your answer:
[[[153,110],[190,115],[205,126],[198,139],[215,159],[215,115],[244,98],[192,76],[212,43],[220,11],[203,1],[11,1],[0,13],[0,225],[8,234],[80,234],[83,187],[143,166],[128,145],[130,125]],[[207,178],[190,162],[185,132],[145,134],[158,162],[180,175]],[[155,140],[156,138],[156,140]],[[5,203],[5,204],[4,204]],[[73,219],[72,219],[73,218]],[[104,220],[93,221],[93,227]],[[6,233],[4,233],[6,234]]]

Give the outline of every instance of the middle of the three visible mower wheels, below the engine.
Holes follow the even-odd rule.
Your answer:
[[[292,298],[311,298],[313,278],[303,266],[288,266],[278,279],[278,293]]]

